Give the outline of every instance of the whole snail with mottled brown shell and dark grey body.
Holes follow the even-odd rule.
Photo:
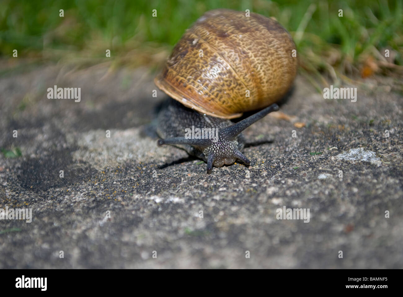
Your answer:
[[[293,50],[291,35],[274,19],[227,9],[206,12],[154,79],[174,99],[158,114],[157,145],[179,146],[203,159],[207,173],[237,159],[250,165],[241,153],[241,132],[278,110],[275,102],[289,91],[297,72]],[[230,120],[258,109],[235,124]]]

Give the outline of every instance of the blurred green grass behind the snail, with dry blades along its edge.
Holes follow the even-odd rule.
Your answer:
[[[111,68],[156,69],[185,29],[214,8],[275,17],[294,37],[300,73],[317,89],[354,77],[403,73],[401,0],[2,0],[0,75],[17,67],[20,59],[12,58],[13,50],[33,63],[106,62]],[[111,58],[105,57],[106,49]]]

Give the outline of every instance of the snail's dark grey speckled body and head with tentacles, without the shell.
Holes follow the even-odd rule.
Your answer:
[[[241,132],[254,122],[260,120],[272,111],[278,110],[273,104],[248,118],[233,124],[230,120],[215,118],[189,109],[181,103],[168,99],[158,114],[157,133],[164,139],[158,139],[157,145],[172,144],[185,149],[189,155],[196,156],[207,162],[207,173],[211,173],[212,166],[221,167],[231,165],[240,159],[246,165],[250,161],[241,150],[245,141]],[[218,129],[218,140],[187,139],[185,129],[191,128]]]

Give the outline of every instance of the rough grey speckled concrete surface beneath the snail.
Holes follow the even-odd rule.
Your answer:
[[[81,102],[48,99],[54,85],[81,87]],[[305,127],[268,116],[244,133],[249,168],[207,175],[156,146],[165,97],[147,70],[4,72],[0,208],[33,219],[0,220],[0,268],[403,268],[401,85],[354,87],[355,103],[323,99],[298,77],[280,111]],[[277,220],[283,206],[309,208],[309,223]]]

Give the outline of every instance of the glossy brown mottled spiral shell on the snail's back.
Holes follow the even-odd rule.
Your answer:
[[[210,10],[187,29],[154,82],[187,107],[237,118],[285,95],[297,72],[292,50],[291,35],[273,19]]]

